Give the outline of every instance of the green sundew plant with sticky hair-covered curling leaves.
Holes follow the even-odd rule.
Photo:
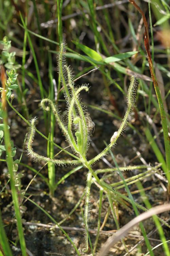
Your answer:
[[[122,196],[118,191],[115,191],[112,186],[109,186],[104,180],[100,180],[98,178],[98,173],[100,172],[111,172],[114,169],[102,169],[102,170],[94,170],[92,165],[100,160],[104,155],[106,155],[109,150],[111,150],[115,145],[116,141],[118,140],[119,136],[124,131],[130,114],[135,106],[135,95],[137,90],[137,82],[135,77],[131,77],[131,82],[127,94],[127,110],[125,116],[122,120],[122,123],[119,127],[117,132],[114,132],[113,136],[111,137],[110,144],[97,156],[93,159],[87,160],[87,151],[90,144],[90,136],[91,130],[94,127],[94,122],[91,120],[86,108],[83,106],[80,93],[81,91],[85,90],[86,92],[89,91],[87,85],[82,85],[77,87],[74,85],[73,81],[73,74],[71,68],[67,66],[65,61],[65,44],[62,43],[60,45],[60,52],[58,55],[58,71],[61,77],[63,90],[64,90],[64,97],[67,102],[67,119],[63,121],[61,117],[60,110],[57,106],[51,101],[50,99],[43,99],[41,101],[41,106],[45,111],[52,110],[56,122],[60,126],[62,133],[71,146],[73,153],[69,153],[73,159],[61,160],[61,159],[51,159],[49,157],[45,157],[42,155],[37,154],[34,152],[32,148],[34,134],[36,131],[36,118],[33,118],[31,121],[31,128],[27,138],[27,151],[28,154],[35,160],[35,161],[43,161],[46,163],[54,163],[55,165],[78,165],[83,164],[85,168],[88,169],[87,180],[86,180],[86,188],[85,188],[85,207],[84,207],[84,224],[85,224],[85,248],[83,249],[84,252],[88,251],[88,215],[89,215],[89,204],[90,204],[90,187],[93,182],[97,186],[99,186],[101,193],[103,191],[106,193],[108,197],[108,201],[112,210],[112,214],[116,223],[117,228],[119,229],[119,223],[117,221],[117,217],[115,211],[113,209],[113,200],[119,197],[123,197],[125,200],[128,200],[125,196]],[[139,205],[137,205],[139,207]],[[142,208],[142,207],[139,207]],[[142,208],[144,209],[144,208]],[[124,243],[124,242],[123,242]]]

